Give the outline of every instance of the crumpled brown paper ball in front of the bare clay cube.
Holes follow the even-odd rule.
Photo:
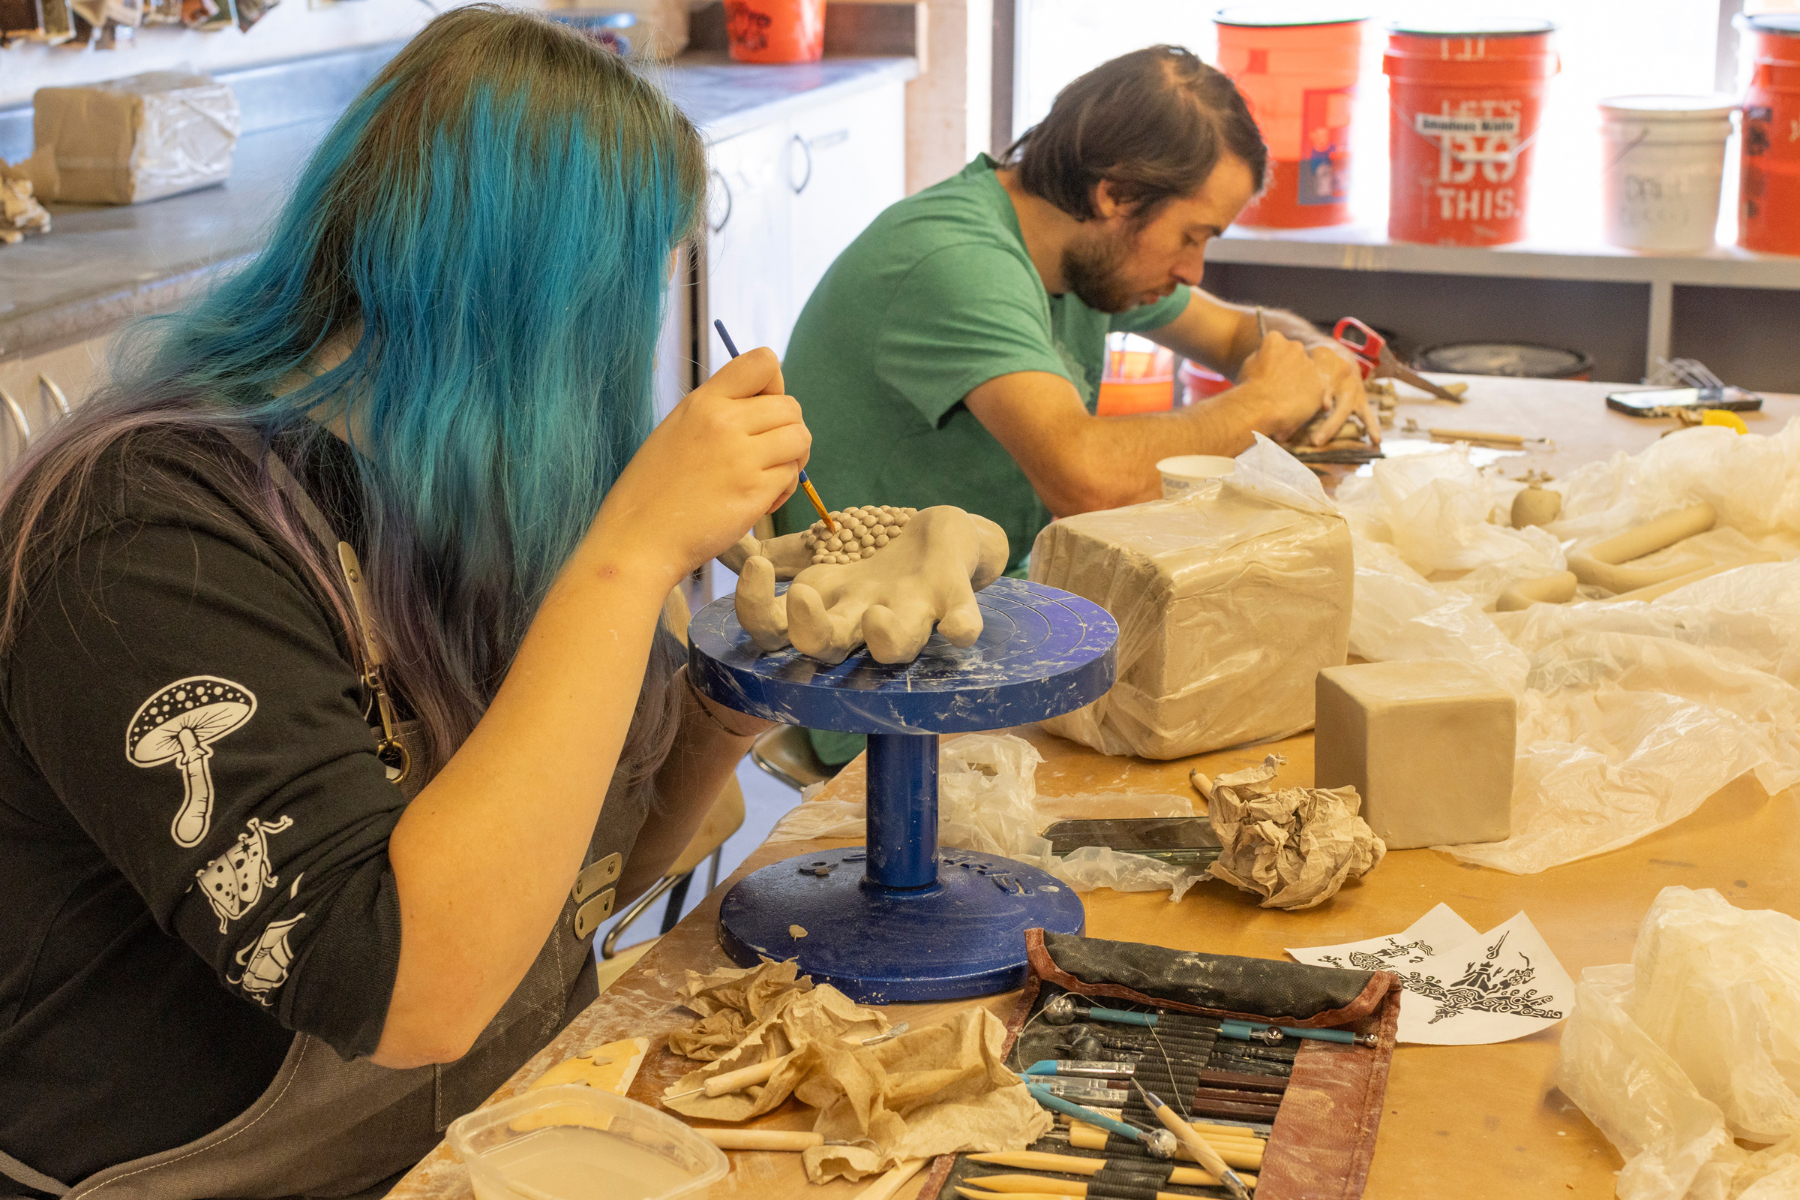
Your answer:
[[[1271,754],[1262,766],[1217,781],[1193,772],[1193,784],[1224,846],[1213,874],[1264,896],[1264,909],[1310,909],[1336,896],[1345,880],[1373,871],[1388,847],[1357,817],[1355,788],[1271,786],[1285,761]]]

